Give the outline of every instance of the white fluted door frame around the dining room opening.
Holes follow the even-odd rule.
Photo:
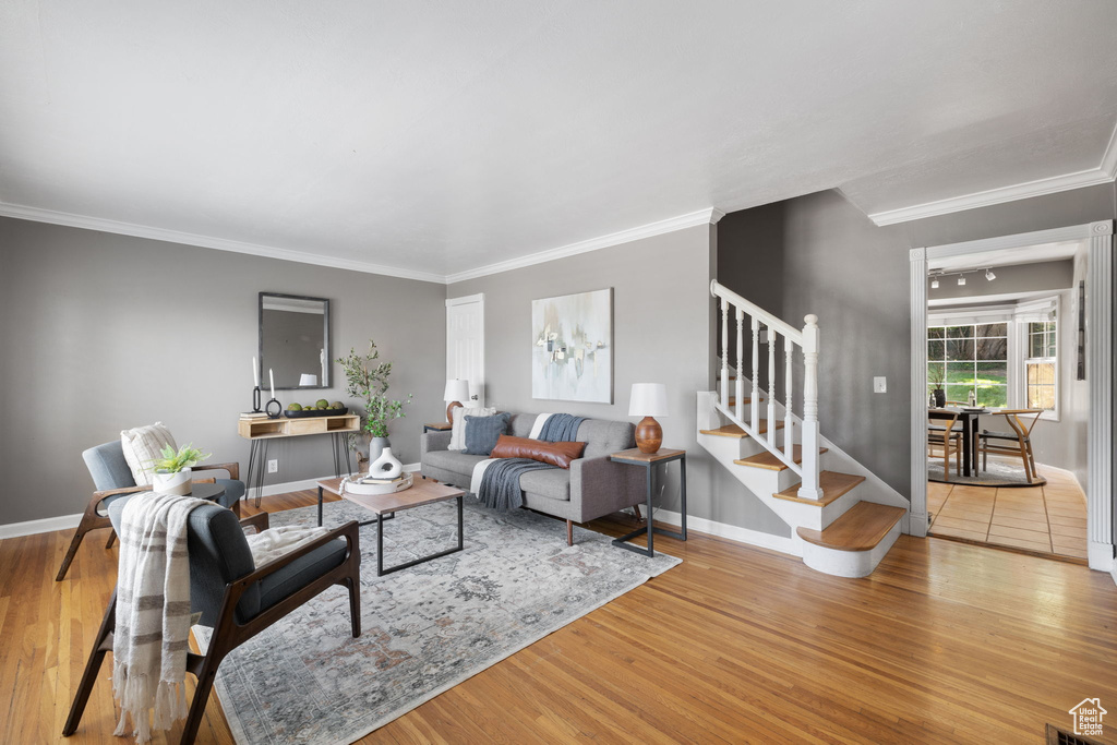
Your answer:
[[[1114,429],[1114,221],[1000,236],[961,243],[913,248],[911,296],[911,535],[927,535],[927,261],[1005,248],[1070,240],[1088,242],[1086,271],[1086,380],[1090,405],[1087,423],[1086,524],[1090,569],[1117,574],[1113,525]],[[917,395],[916,393],[919,392]]]

